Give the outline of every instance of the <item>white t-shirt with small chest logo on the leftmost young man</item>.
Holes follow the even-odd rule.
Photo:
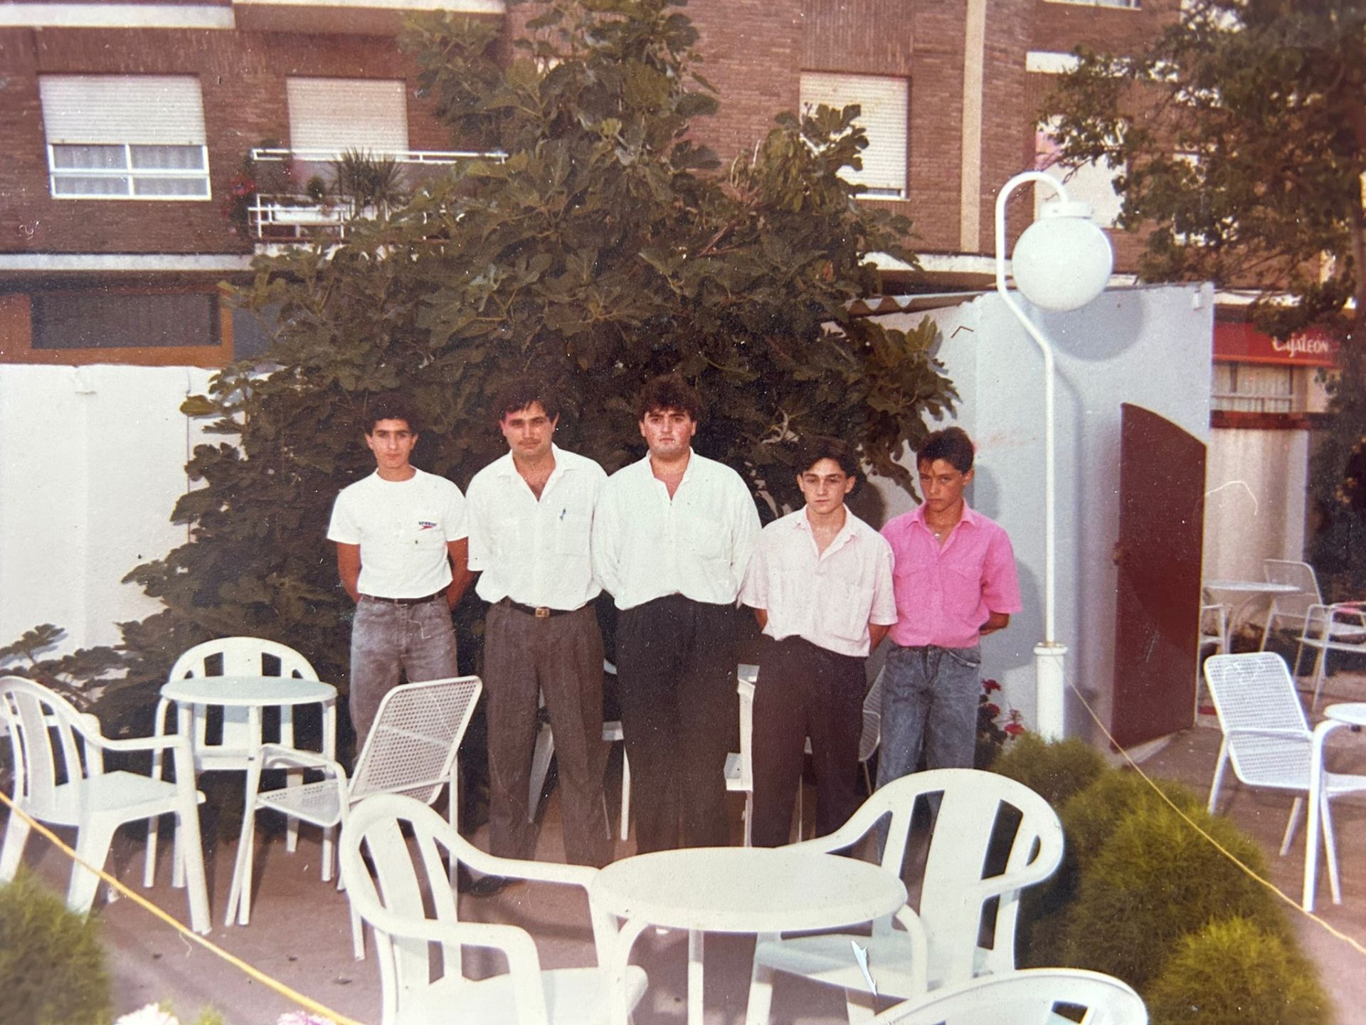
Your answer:
[[[451,584],[447,543],[466,536],[464,495],[414,467],[406,481],[378,472],[342,489],[328,540],[361,545],[358,589],[373,597],[426,597]]]

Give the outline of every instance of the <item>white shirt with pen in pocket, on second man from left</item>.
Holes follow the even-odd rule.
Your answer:
[[[591,459],[550,446],[555,470],[537,500],[512,454],[494,459],[470,481],[470,569],[482,575],[474,590],[485,601],[508,597],[523,605],[571,611],[596,599],[590,541],[593,510],[607,473]]]

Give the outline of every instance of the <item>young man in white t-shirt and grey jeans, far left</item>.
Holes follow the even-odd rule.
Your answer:
[[[328,528],[342,585],[355,601],[350,709],[358,750],[400,671],[410,681],[459,672],[451,610],[471,578],[464,496],[408,462],[417,443],[408,403],[373,399],[365,444],[376,472],[342,489]]]

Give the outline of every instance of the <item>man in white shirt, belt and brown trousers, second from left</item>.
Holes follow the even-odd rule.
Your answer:
[[[522,380],[499,398],[508,454],[470,481],[470,569],[490,603],[484,630],[489,715],[490,850],[535,856],[527,806],[537,696],[555,730],[564,854],[602,866],[612,857],[602,809],[602,636],[593,599],[602,590],[589,555],[593,510],[607,481],[591,459],[553,443],[556,396]],[[485,876],[475,894],[504,880]]]

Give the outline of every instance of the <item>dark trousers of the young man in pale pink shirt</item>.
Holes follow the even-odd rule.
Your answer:
[[[833,832],[858,809],[865,685],[863,659],[800,637],[764,638],[751,748],[755,847],[788,842],[807,737],[816,767],[816,834]]]

